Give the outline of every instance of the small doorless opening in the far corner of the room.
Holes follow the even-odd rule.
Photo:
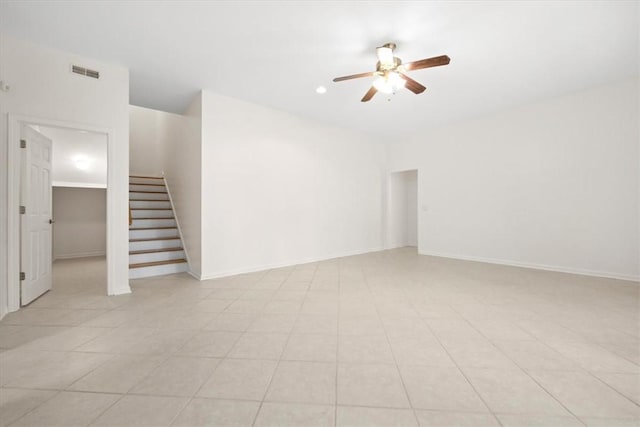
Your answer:
[[[387,182],[387,249],[418,247],[418,171],[389,174]]]

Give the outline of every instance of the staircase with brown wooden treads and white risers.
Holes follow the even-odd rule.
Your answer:
[[[187,271],[163,178],[129,177],[129,278]]]

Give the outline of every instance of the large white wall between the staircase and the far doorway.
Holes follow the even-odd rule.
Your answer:
[[[382,146],[204,91],[202,277],[378,250]]]

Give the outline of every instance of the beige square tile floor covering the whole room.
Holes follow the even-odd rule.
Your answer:
[[[638,283],[370,253],[218,280],[103,259],[0,322],[0,425],[638,426]]]

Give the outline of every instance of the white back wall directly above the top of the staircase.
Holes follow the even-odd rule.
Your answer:
[[[160,176],[163,170],[165,135],[163,116],[169,114],[148,108],[129,107],[129,173],[131,175]]]

